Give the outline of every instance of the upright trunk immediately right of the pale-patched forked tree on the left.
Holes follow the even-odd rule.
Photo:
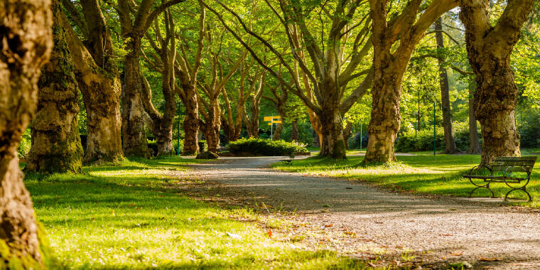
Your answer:
[[[144,131],[143,106],[139,87],[139,51],[141,40],[130,37],[129,53],[124,63],[124,91],[122,92],[122,144],[126,156],[148,155],[148,142]]]

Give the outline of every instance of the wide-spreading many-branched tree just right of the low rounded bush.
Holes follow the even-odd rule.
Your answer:
[[[283,27],[282,30],[290,44],[293,60],[286,59],[284,57],[285,53],[276,50],[274,45],[271,45],[262,36],[263,33],[252,31],[244,23],[242,17],[229,6],[217,0],[215,2],[232,14],[244,31],[263,43],[291,75],[292,83],[285,82],[283,77],[279,76],[276,71],[264,65],[257,53],[239,37],[236,31],[227,25],[222,13],[207,6],[207,9],[216,14],[227,28],[227,31],[231,32],[249,50],[249,53],[257,59],[260,65],[263,65],[270,75],[280,80],[288,88],[288,91],[298,95],[304,104],[313,111],[316,119],[313,117],[312,124],[314,127],[318,127],[319,121],[320,134],[322,134],[320,156],[345,158],[342,114],[345,114],[352,104],[365,94],[372,81],[370,76],[372,72],[370,72],[369,68],[355,72],[369,53],[369,49],[372,48],[371,39],[369,38],[368,16],[355,19],[355,13],[362,5],[362,1],[338,1],[335,6],[326,6],[324,3],[311,6],[311,4],[303,4],[296,0],[280,0],[278,5],[281,12],[274,8],[269,1],[265,1]],[[324,22],[321,26],[317,22],[319,20],[313,19],[313,24],[306,22],[310,18],[315,18],[310,14],[315,9],[320,11],[319,18],[321,21],[323,21],[322,16],[325,16],[329,28],[325,28]],[[316,27],[310,29],[308,25],[315,25]],[[357,27],[362,25],[363,28]],[[323,38],[317,41],[312,32],[321,31],[321,29]],[[349,50],[349,48],[352,49]],[[308,52],[308,58],[303,57],[303,53],[301,53],[303,50]],[[311,60],[311,63],[308,64],[306,60]],[[344,98],[347,85],[362,76],[364,76],[364,79],[359,86],[355,87],[350,92],[350,95]],[[306,95],[306,92],[309,91],[308,87],[313,88],[314,99],[310,98],[309,94]]]

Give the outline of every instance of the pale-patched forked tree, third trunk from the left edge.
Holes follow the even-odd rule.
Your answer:
[[[120,136],[121,85],[110,31],[97,0],[81,0],[82,12],[72,1],[62,2],[81,34],[75,33],[62,14],[66,43],[87,112],[83,161],[117,161],[124,156]]]

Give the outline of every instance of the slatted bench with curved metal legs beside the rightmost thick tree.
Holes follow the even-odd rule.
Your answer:
[[[491,192],[491,198],[495,197],[495,193],[490,188],[491,183],[505,183],[509,188],[512,188],[505,196],[504,200],[507,200],[508,195],[514,190],[523,190],[529,196],[529,202],[532,202],[531,195],[527,192],[527,184],[531,180],[531,172],[536,162],[536,156],[522,156],[522,157],[499,157],[495,158],[493,165],[491,166],[475,166],[470,169],[468,175],[463,175],[463,178],[468,178],[470,183],[476,186],[470,191],[469,198],[473,196],[473,193],[478,188],[487,188]],[[479,175],[482,169],[485,175]],[[489,173],[489,175],[487,175]],[[495,174],[499,175],[495,175]],[[512,175],[512,173],[521,173],[521,175]],[[524,174],[527,174],[525,176]],[[484,180],[484,183],[474,183],[473,179]],[[524,184],[522,183],[524,182]]]

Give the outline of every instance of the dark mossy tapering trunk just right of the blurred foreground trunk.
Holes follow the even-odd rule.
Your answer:
[[[32,123],[32,148],[25,171],[80,173],[79,91],[65,42],[60,5],[53,5],[53,53],[38,82],[38,110]]]

